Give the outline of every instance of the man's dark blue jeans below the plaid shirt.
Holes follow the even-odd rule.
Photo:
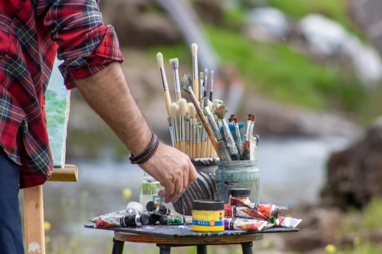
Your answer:
[[[0,147],[0,254],[24,254],[19,181],[20,166]]]

